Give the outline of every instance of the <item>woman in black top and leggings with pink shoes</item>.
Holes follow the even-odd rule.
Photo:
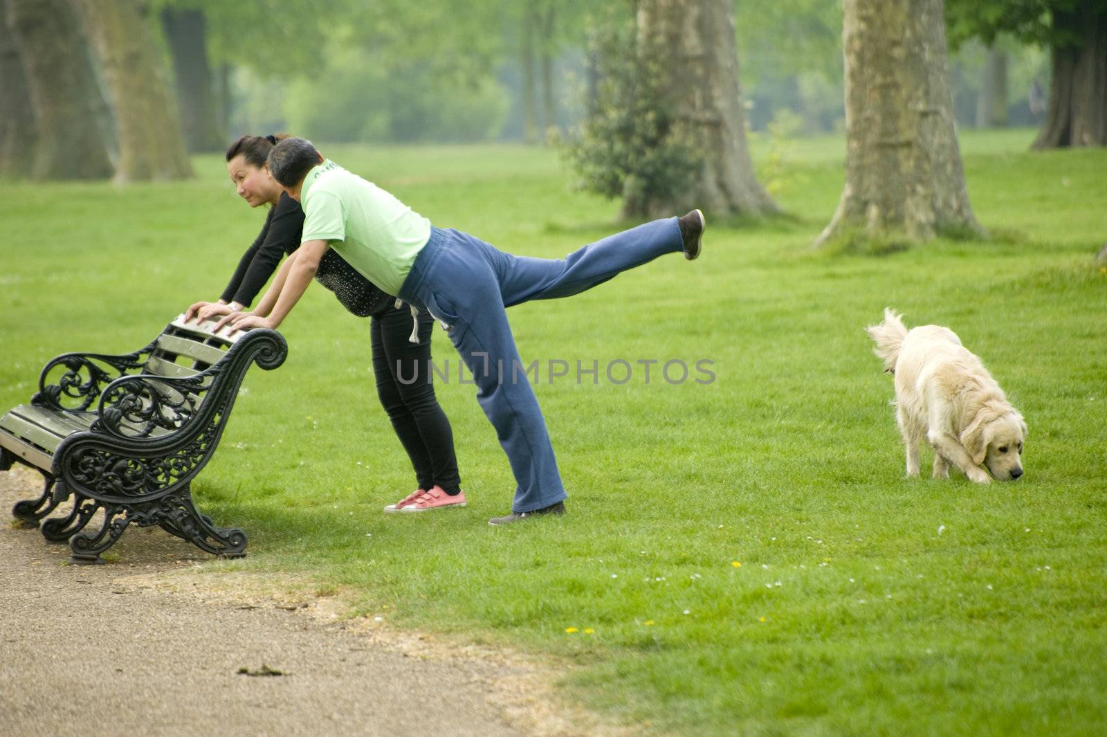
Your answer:
[[[217,302],[196,302],[186,320],[206,320],[239,311],[250,304],[272,274],[281,258],[300,246],[303,210],[284,194],[269,175],[266,157],[276,136],[242,136],[227,149],[227,173],[238,196],[250,207],[269,205],[269,215],[257,239],[242,255],[227,289]],[[372,318],[373,373],[376,392],[392,427],[415,468],[418,489],[385,511],[427,511],[442,507],[464,507],[454,436],[449,419],[434,396],[431,371],[431,329],[427,312],[413,318],[350,266],[334,249],[319,264],[315,280],[334,292],[339,302],[355,315]],[[266,313],[269,294],[258,310]],[[413,329],[413,320],[415,321]]]

